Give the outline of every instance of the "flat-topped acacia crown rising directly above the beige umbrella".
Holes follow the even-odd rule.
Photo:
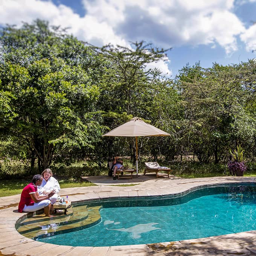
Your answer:
[[[101,90],[101,109],[105,113],[143,116],[146,102],[142,97],[151,93],[152,69],[146,69],[151,62],[165,58],[169,49],[158,49],[151,44],[131,43],[131,49],[107,45],[95,48],[105,63],[104,83]]]

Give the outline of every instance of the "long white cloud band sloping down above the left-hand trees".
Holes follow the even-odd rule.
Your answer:
[[[70,27],[70,33],[91,44],[102,46],[113,43],[128,46],[126,40],[119,37],[106,21],[90,14],[79,17],[65,5],[56,6],[52,2],[41,0],[0,0],[0,2],[0,24],[21,26],[22,21],[31,23],[40,18],[48,20],[52,25]]]

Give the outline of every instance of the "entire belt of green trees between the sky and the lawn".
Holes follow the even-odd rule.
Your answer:
[[[95,47],[42,20],[2,27],[0,157],[27,158],[39,169],[85,157],[99,166],[116,154],[134,158],[133,138],[102,134],[138,116],[171,134],[140,138],[140,155],[218,163],[241,144],[253,160],[255,60],[186,64],[171,79],[148,68],[168,50],[144,41]]]

